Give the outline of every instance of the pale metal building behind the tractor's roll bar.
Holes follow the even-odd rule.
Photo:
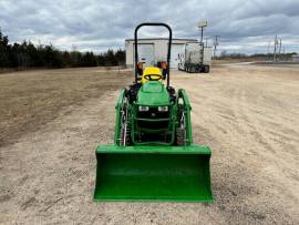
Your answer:
[[[177,69],[179,55],[185,53],[186,43],[195,43],[196,39],[173,39],[171,68]],[[155,65],[159,61],[166,61],[168,39],[138,39],[138,60],[144,65]],[[134,39],[125,40],[125,62],[127,67],[134,65]]]

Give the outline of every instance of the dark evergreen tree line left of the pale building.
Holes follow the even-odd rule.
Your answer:
[[[61,51],[52,44],[35,45],[30,41],[9,43],[0,30],[0,68],[76,68],[125,64],[124,50],[104,53]]]

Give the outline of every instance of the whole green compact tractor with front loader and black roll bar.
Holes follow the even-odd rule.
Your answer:
[[[161,68],[138,62],[137,31],[144,25],[169,31]],[[213,201],[210,150],[193,144],[188,96],[169,85],[171,47],[167,24],[136,27],[135,82],[117,99],[114,144],[96,149],[95,201]]]

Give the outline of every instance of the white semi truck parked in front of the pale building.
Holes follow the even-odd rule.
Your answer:
[[[189,73],[209,72],[212,48],[202,42],[190,42],[185,45],[185,53],[178,55],[178,70]]]

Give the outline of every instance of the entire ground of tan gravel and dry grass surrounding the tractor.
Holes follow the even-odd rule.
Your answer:
[[[173,75],[193,103],[194,141],[213,151],[214,203],[93,203],[94,149],[113,141],[116,90],[130,79],[0,74],[0,224],[299,224],[296,68]]]

